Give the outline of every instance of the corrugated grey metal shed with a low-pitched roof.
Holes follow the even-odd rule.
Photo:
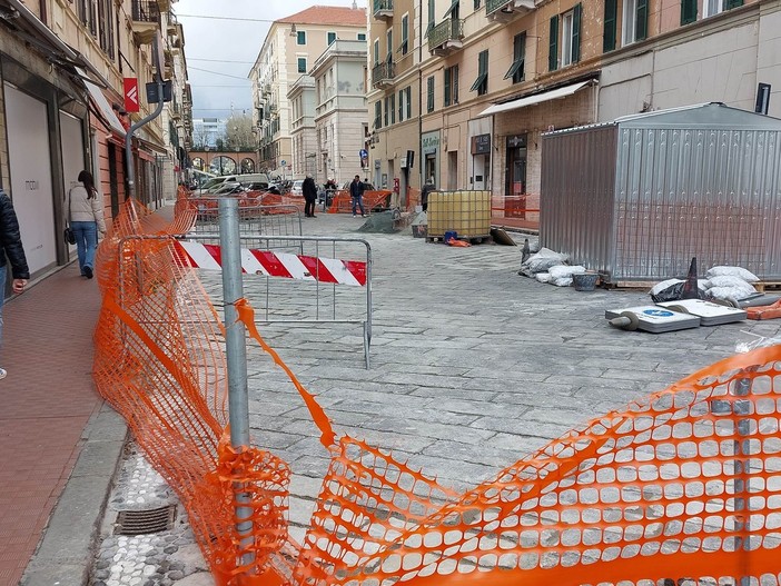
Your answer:
[[[781,280],[781,120],[721,103],[543,135],[540,242],[611,284]]]

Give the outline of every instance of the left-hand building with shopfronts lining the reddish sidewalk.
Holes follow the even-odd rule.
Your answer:
[[[93,172],[108,218],[125,200],[126,131],[151,111],[144,96],[154,73],[151,43],[160,39],[162,53],[181,32],[169,27],[169,11],[170,0],[0,0],[0,181],[13,199],[33,275],[73,254],[61,235],[67,192],[80,170]],[[123,107],[123,79],[131,77],[140,93],[135,113]],[[175,126],[171,136],[181,138]],[[157,206],[162,161],[175,153],[160,118],[136,136],[135,192]]]

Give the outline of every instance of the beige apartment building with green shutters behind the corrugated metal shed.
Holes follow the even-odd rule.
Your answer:
[[[397,161],[414,148],[413,186],[432,178],[443,189],[538,193],[548,130],[709,101],[747,110],[760,101],[781,117],[780,8],[778,0],[373,0],[376,176],[399,177]],[[399,34],[413,61],[419,56],[412,71],[393,49]],[[419,79],[414,121],[394,116],[409,79]]]

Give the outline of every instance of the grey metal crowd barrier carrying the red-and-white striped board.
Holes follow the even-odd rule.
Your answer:
[[[219,246],[219,234],[188,234],[182,240],[215,247]],[[245,297],[257,301],[253,302],[257,322],[359,325],[369,368],[373,260],[367,240],[246,232],[239,240]],[[209,250],[214,251],[205,249],[201,254],[209,255]],[[214,257],[201,262],[191,256],[189,260],[199,268],[218,270]],[[207,291],[219,295],[218,278],[202,275],[200,280]]]

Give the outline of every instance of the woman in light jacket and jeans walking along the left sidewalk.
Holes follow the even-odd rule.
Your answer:
[[[106,234],[103,206],[95,188],[92,173],[81,171],[79,182],[68,192],[70,227],[76,236],[81,276],[92,278],[95,250],[98,248],[98,232]]]

